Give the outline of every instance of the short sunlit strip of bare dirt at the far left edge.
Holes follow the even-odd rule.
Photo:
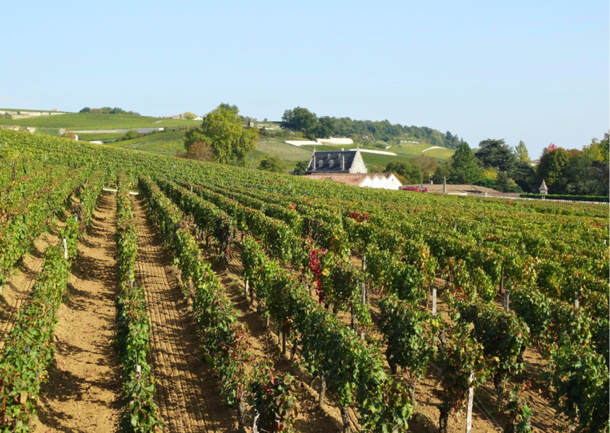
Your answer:
[[[8,336],[8,332],[13,329],[17,310],[31,294],[38,274],[43,269],[45,249],[50,244],[59,242],[57,224],[63,225],[61,221],[56,220],[52,223],[52,229],[49,232],[38,236],[32,253],[24,256],[21,265],[13,271],[2,288],[0,294],[0,350],[4,348],[4,339]]]

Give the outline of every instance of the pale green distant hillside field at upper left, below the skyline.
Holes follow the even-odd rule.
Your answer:
[[[198,120],[160,119],[158,117],[105,115],[101,113],[69,113],[57,116],[31,117],[29,119],[0,119],[0,125],[71,129],[179,128],[200,124],[201,122]]]

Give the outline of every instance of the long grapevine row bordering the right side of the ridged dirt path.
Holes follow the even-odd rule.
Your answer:
[[[183,293],[193,300],[202,348],[222,378],[225,399],[237,409],[240,433],[246,432],[248,398],[259,430],[292,431],[297,406],[295,379],[289,374],[273,374],[269,362],[255,360],[244,325],[237,321],[237,311],[209,263],[204,263],[184,214],[151,179],[140,177],[138,186],[151,219],[179,263]]]

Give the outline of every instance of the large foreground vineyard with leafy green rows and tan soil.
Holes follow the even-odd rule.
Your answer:
[[[0,431],[608,432],[609,210],[0,129]]]

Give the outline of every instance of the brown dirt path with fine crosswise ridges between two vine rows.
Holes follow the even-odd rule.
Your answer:
[[[151,319],[151,367],[164,432],[235,432],[237,416],[220,395],[218,378],[202,361],[198,330],[142,202],[132,198],[137,224],[136,284],[144,286]]]

